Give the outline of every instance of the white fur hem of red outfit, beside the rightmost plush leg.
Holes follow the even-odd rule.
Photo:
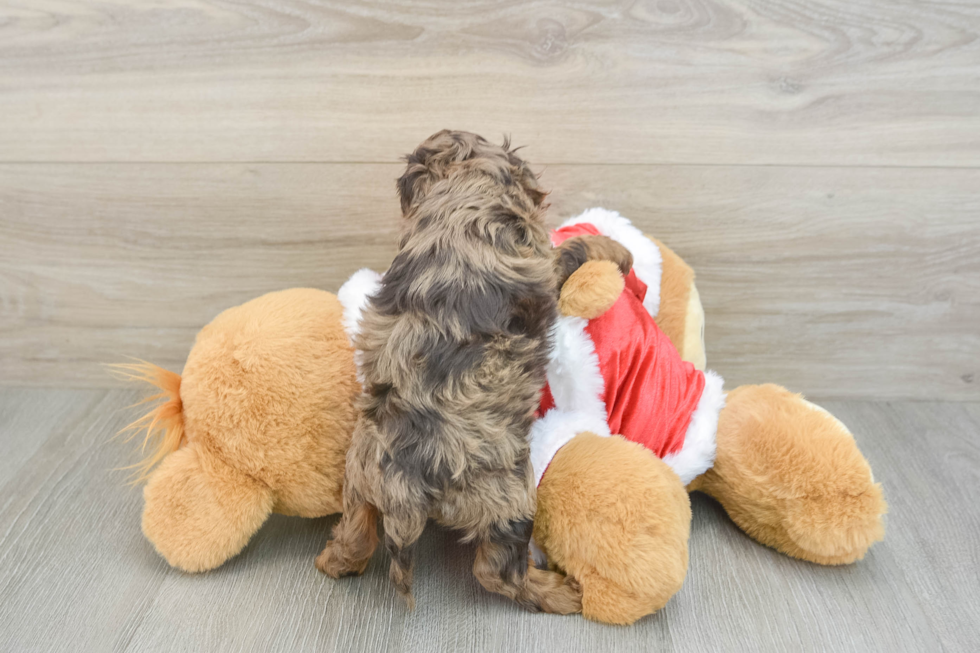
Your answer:
[[[718,415],[725,407],[724,383],[715,372],[704,373],[704,390],[684,435],[684,446],[680,451],[664,456],[664,462],[681,477],[684,485],[715,464]]]

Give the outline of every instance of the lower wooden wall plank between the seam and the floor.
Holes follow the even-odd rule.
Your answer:
[[[0,165],[0,384],[179,370],[221,310],[387,267],[397,165]],[[547,166],[550,219],[630,217],[690,262],[729,386],[980,399],[980,171]]]

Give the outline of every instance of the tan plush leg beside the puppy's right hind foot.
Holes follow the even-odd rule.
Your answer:
[[[662,608],[687,574],[691,505],[641,445],[580,433],[538,486],[534,539],[582,586],[582,614],[630,624]]]

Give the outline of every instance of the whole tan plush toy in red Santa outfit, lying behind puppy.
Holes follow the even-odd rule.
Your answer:
[[[885,503],[846,427],[778,386],[726,394],[704,371],[693,271],[603,209],[553,241],[583,233],[619,241],[634,263],[625,277],[586,263],[561,289],[530,438],[537,563],[580,583],[587,618],[628,624],[656,612],[686,575],[695,490],[788,555],[860,559],[883,535]],[[337,296],[292,289],[228,309],[198,334],[181,375],[117,366],[160,389],[131,426],[151,441],[137,467],[143,532],[171,565],[219,566],[272,512],[341,510],[360,392],[350,337],[379,278],[361,270]]]

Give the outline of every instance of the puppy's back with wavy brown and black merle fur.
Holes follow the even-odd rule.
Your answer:
[[[465,174],[419,204],[357,342],[362,409],[392,452],[381,462],[440,486],[472,459],[521,459],[513,434],[530,428],[557,314],[536,210]]]

